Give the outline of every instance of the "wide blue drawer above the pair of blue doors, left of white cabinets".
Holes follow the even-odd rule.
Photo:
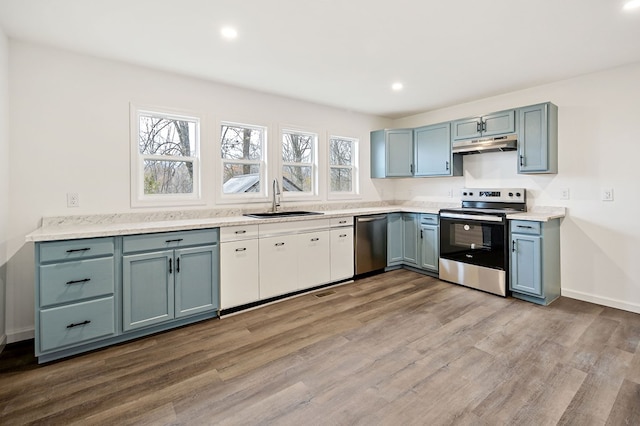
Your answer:
[[[184,232],[129,235],[122,238],[122,251],[131,253],[148,250],[166,250],[196,245],[215,244],[219,240],[218,228]]]

